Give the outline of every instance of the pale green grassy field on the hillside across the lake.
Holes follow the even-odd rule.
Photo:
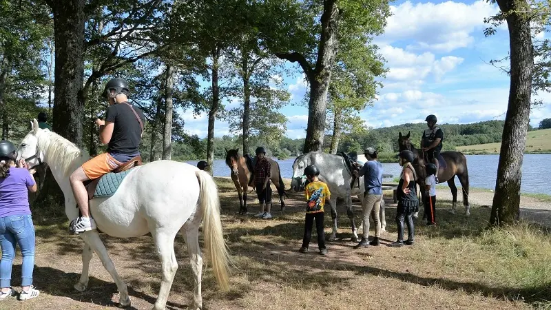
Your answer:
[[[465,154],[499,154],[501,143],[486,143],[455,147]],[[526,153],[551,153],[551,129],[534,130],[526,134]]]

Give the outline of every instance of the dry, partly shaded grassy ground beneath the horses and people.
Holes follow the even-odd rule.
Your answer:
[[[550,305],[545,302],[551,296],[551,278],[547,276],[551,274],[551,267],[545,267],[551,265],[547,263],[551,260],[548,251],[551,245],[545,241],[549,235],[539,231],[541,238],[526,242],[529,247],[517,245],[515,240],[497,247],[502,238],[484,231],[490,212],[487,207],[473,205],[472,216],[466,218],[448,214],[446,209],[450,209],[450,203],[439,201],[439,226],[424,227],[422,221],[417,220],[415,246],[393,249],[382,245],[355,250],[352,248],[355,243],[350,240],[349,221],[344,207],[340,206],[339,239],[328,242],[328,256],[319,256],[315,234],[311,253],[298,253],[304,229],[302,194],[291,195],[284,213],[278,211],[279,206],[274,206],[273,220],[258,220],[250,215],[238,216],[233,185],[222,178],[217,178],[217,182],[225,234],[235,267],[231,290],[227,293],[216,288],[208,268],[204,271],[204,309],[530,309]],[[359,201],[353,202],[359,223]],[[249,212],[258,211],[257,206],[256,203],[249,205]],[[395,207],[387,204],[389,232],[382,234],[384,244],[396,238],[394,216]],[[326,232],[329,232],[330,218],[329,213],[326,214]],[[92,277],[87,291],[79,293],[72,288],[81,271],[82,246],[79,237],[67,234],[66,221],[50,219],[36,224],[34,282],[41,296],[25,302],[3,300],[0,309],[116,307],[116,286],[96,256],[92,258]],[[151,309],[160,279],[152,239],[149,236],[102,238],[118,273],[128,284],[132,298],[129,309]],[[508,236],[503,237],[506,239]],[[167,309],[187,309],[193,280],[180,236],[176,247],[180,268]],[[537,265],[542,256],[545,263]],[[534,282],[534,276],[526,278],[520,273],[533,266],[539,268],[534,274],[545,277],[540,282]],[[19,284],[20,272],[18,253],[13,285]]]

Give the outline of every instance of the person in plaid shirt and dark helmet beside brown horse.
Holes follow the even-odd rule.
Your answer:
[[[253,178],[254,187],[260,203],[260,212],[256,214],[256,217],[268,220],[271,218],[271,163],[266,158],[266,149],[264,149],[264,147],[256,148],[256,158],[257,161],[254,166]]]

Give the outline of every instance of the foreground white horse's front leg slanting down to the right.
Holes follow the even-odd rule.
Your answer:
[[[118,303],[122,307],[128,307],[130,305],[130,298],[128,296],[128,289],[126,287],[125,282],[123,282],[123,279],[121,276],[118,276],[118,273],[116,272],[115,266],[113,265],[113,261],[109,257],[109,254],[107,253],[107,249],[105,249],[105,245],[103,245],[103,242],[101,242],[101,239],[99,238],[98,231],[96,230],[90,230],[85,231],[83,235],[84,242],[87,243],[87,245],[90,246],[96,254],[98,254],[99,260],[101,260],[101,263],[103,264],[103,267],[105,267],[105,270],[109,272],[113,280],[115,281],[116,288],[118,289],[118,292],[121,293],[121,296],[118,298]]]

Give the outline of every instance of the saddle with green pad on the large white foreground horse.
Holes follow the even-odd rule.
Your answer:
[[[88,199],[92,200],[94,197],[112,196],[115,194],[116,189],[118,189],[118,185],[121,185],[123,178],[130,172],[130,169],[142,164],[141,156],[136,156],[123,163],[123,165],[116,167],[113,172],[104,174],[101,178],[86,181],[84,186],[88,192]]]

